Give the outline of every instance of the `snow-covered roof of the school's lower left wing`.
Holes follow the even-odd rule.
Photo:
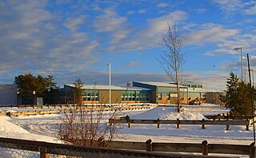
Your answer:
[[[74,87],[74,85],[68,85],[70,87]],[[100,89],[100,90],[109,90],[109,85],[82,85],[82,89]],[[135,86],[126,86],[126,85],[111,85],[111,90],[151,90],[145,89],[142,87],[135,87]]]

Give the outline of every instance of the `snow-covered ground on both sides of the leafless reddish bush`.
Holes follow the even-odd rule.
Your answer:
[[[10,110],[24,109],[0,109],[3,112]],[[148,110],[124,111],[118,115],[129,115],[131,119],[202,120],[202,118],[206,119],[204,115],[227,113],[228,111],[219,105],[184,105],[182,113],[176,113],[175,107],[161,106]],[[106,112],[106,116],[108,113]],[[0,136],[59,142],[56,140],[56,133],[61,117],[63,114],[0,117]],[[226,130],[226,125],[207,124],[206,129],[202,129],[201,125],[181,125],[181,128],[176,128],[175,124],[161,124],[160,128],[157,128],[156,124],[132,124],[132,128],[127,128],[127,124],[118,124],[115,140],[146,141],[151,139],[153,142],[188,143],[201,143],[202,140],[208,140],[209,143],[250,144],[253,142],[252,129],[250,126],[250,131],[246,131],[245,126],[230,125],[230,130]]]

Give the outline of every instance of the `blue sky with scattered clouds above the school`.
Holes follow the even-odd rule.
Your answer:
[[[158,61],[168,24],[182,38],[182,82],[226,89],[231,71],[241,76],[234,47],[244,76],[246,53],[256,70],[255,0],[0,0],[0,84],[32,73],[108,85],[107,63],[111,85],[170,81]]]

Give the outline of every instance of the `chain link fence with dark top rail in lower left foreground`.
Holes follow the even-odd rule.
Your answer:
[[[33,140],[0,138],[0,157],[5,158],[133,158],[170,157],[164,153],[131,151],[109,148],[92,148]]]

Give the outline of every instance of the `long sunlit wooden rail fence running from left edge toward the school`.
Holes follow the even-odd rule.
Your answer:
[[[7,112],[7,113],[0,113],[0,116],[15,116],[18,117],[20,115],[44,115],[44,114],[52,114],[52,113],[78,113],[81,110],[83,111],[125,111],[125,110],[137,110],[137,109],[151,109],[157,107],[156,105],[136,105],[136,106],[123,106],[123,107],[112,107],[112,108],[99,108],[99,107],[84,107],[80,108],[79,106],[59,106],[58,108],[62,109],[49,109],[49,110],[44,110],[44,109],[38,109],[38,110],[28,110],[28,111],[19,111],[19,112]],[[56,107],[55,107],[56,108]]]

